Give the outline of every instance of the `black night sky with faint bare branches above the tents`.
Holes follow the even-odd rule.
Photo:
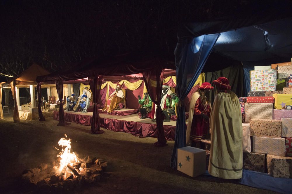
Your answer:
[[[276,1],[265,4],[268,2]],[[177,29],[184,21],[244,17],[248,7],[262,6],[247,0],[0,3],[0,72],[13,75],[32,63],[53,72],[84,58],[135,51],[161,54],[174,61]],[[212,54],[210,60],[223,59]]]

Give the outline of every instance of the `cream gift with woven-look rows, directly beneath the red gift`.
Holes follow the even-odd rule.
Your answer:
[[[244,104],[245,123],[250,119],[273,119],[272,103],[245,103]]]

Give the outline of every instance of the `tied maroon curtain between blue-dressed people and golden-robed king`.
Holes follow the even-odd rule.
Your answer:
[[[100,118],[98,112],[98,100],[100,98],[100,88],[102,82],[102,75],[88,77],[89,86],[93,97],[93,117],[91,123],[91,133],[101,134],[104,131],[100,130]]]

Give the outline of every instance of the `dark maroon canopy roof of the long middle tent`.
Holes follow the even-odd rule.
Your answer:
[[[143,54],[125,54],[113,57],[94,57],[72,64],[72,70],[54,72],[36,78],[37,82],[54,82],[62,80],[78,83],[78,80],[96,75],[103,75],[104,79],[127,80],[142,78],[142,72],[156,68],[174,69],[174,63],[158,56],[144,56]],[[169,71],[170,75],[175,74]],[[111,76],[111,77],[107,77]],[[116,78],[112,77],[116,76]],[[169,76],[169,75],[168,75]],[[69,82],[68,82],[69,81]]]

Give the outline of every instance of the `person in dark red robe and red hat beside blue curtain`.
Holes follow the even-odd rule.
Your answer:
[[[192,147],[196,147],[197,142],[205,139],[210,128],[209,117],[211,112],[211,103],[209,102],[206,92],[213,90],[211,83],[204,82],[198,89],[199,98],[194,106],[194,115],[192,119],[190,139]],[[204,144],[200,143],[201,149],[204,149]]]

